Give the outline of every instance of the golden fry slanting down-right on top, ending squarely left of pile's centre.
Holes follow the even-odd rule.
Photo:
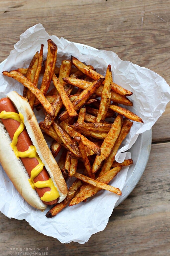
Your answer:
[[[78,116],[77,112],[73,108],[71,101],[69,100],[69,97],[68,97],[66,91],[64,91],[63,85],[61,85],[59,79],[55,76],[55,74],[53,75],[53,83],[54,83],[55,88],[57,89],[57,91],[60,94],[63,105],[66,107],[66,110],[67,110],[69,116],[70,117]]]

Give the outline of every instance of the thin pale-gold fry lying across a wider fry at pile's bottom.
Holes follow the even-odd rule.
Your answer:
[[[76,173],[74,175],[74,177],[77,178],[77,179],[80,179],[83,182],[88,183],[88,184],[90,184],[90,185],[92,185],[94,187],[98,187],[98,188],[110,191],[110,192],[115,193],[115,194],[117,194],[119,196],[122,195],[122,192],[121,192],[121,190],[119,188],[115,188],[115,187],[109,186],[109,185],[107,185],[107,184],[105,184],[103,182],[100,182],[99,179],[96,179],[96,180],[95,179],[91,179],[90,177],[84,176],[83,174],[80,174],[80,173]]]

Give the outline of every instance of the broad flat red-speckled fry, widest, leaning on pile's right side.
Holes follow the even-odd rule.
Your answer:
[[[104,139],[101,145],[101,148],[100,148],[101,154],[100,156],[96,156],[95,158],[95,161],[92,167],[92,173],[96,173],[100,168],[102,161],[105,160],[110,155],[111,150],[114,147],[114,144],[121,132],[122,120],[123,120],[123,116],[118,115],[114,123],[112,124],[112,127],[110,128],[106,138]]]

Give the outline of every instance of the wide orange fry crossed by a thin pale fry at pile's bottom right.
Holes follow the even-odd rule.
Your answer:
[[[101,177],[98,177],[96,180],[105,184],[108,184],[122,169],[122,166],[117,166],[113,169],[111,169],[109,172],[105,173]],[[79,204],[80,202],[86,200],[87,198],[94,196],[99,192],[101,188],[94,187],[90,184],[85,184],[81,187],[80,192],[75,196],[69,206],[73,206],[76,204]]]

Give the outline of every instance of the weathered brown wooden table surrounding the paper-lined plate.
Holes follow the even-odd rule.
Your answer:
[[[41,23],[50,35],[114,51],[122,60],[155,71],[169,84],[169,13],[170,1],[158,0],[1,1],[0,62],[20,34]],[[0,254],[10,255],[9,248],[15,247],[48,247],[50,256],[170,255],[169,111],[170,104],[153,126],[151,153],[140,182],[113,211],[104,231],[84,245],[61,244],[24,220],[0,214]]]

